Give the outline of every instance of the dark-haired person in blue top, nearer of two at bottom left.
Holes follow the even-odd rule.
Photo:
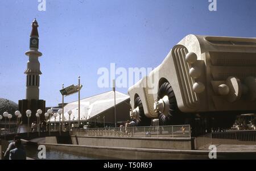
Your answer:
[[[21,140],[15,141],[15,149],[10,151],[10,160],[26,160],[26,151],[22,148]]]

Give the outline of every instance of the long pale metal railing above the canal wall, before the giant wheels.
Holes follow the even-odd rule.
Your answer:
[[[73,129],[76,136],[191,137],[190,125]]]

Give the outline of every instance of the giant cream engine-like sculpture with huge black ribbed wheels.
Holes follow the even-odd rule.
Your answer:
[[[128,93],[137,126],[228,128],[256,112],[256,39],[188,35]]]

